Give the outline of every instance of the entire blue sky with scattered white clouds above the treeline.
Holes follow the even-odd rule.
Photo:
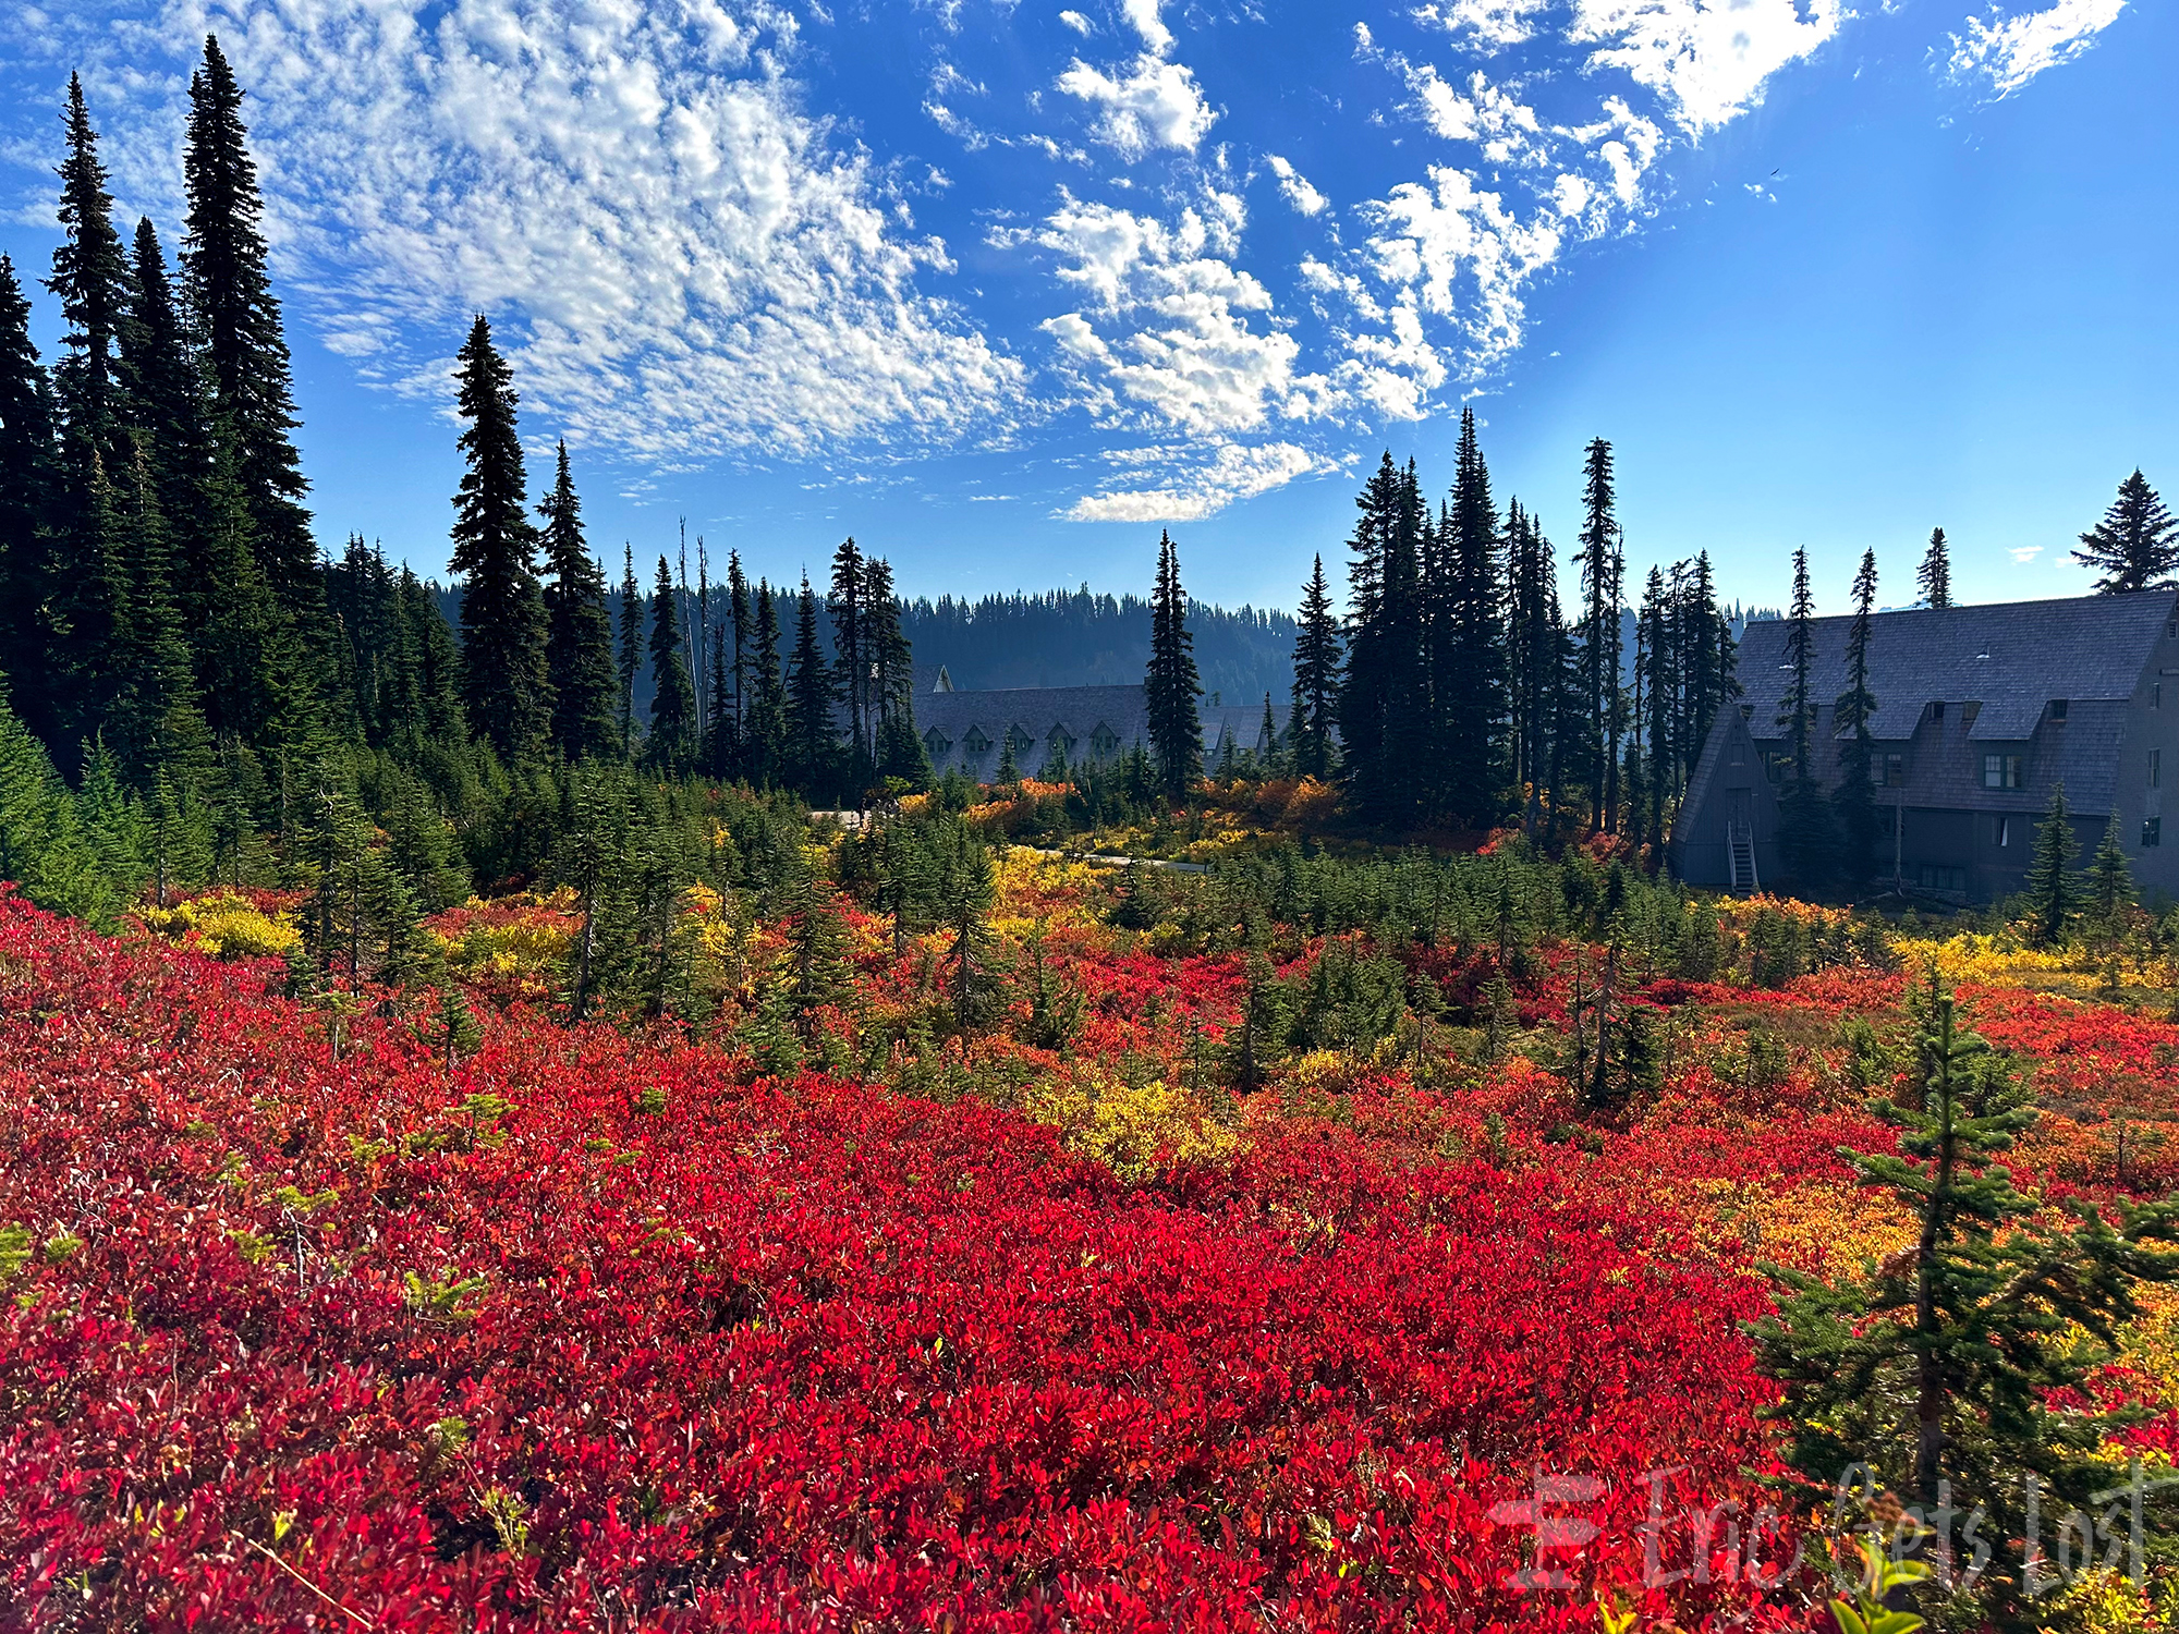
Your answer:
[[[242,0],[0,17],[0,248],[52,251],[83,68],[170,235],[211,28],[251,92],[320,536],[445,564],[471,312],[593,540],[752,571],[843,534],[909,593],[1290,606],[1377,451],[1632,573],[1826,610],[1931,525],[2068,595],[2179,488],[2179,11],[2129,0]],[[39,305],[39,338],[54,312]],[[2179,495],[2175,495],[2179,499]]]

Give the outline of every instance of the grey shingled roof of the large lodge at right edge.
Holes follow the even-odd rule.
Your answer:
[[[1870,691],[1878,739],[1909,739],[1924,704],[1981,704],[1970,736],[2024,741],[2055,697],[2133,697],[2164,623],[2179,608],[2175,590],[2087,595],[2061,601],[1996,601],[1976,608],[1913,608],[1870,617]],[[1846,691],[1846,638],[1852,617],[1815,619],[1811,702],[1826,710]],[[1778,706],[1793,684],[1782,619],[1741,634],[1741,702],[1758,739],[1778,736]]]

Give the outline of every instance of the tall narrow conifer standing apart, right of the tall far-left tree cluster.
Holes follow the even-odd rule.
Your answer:
[[[458,410],[468,420],[460,436],[468,471],[453,499],[449,562],[464,580],[462,704],[471,725],[512,760],[540,747],[551,725],[551,693],[529,479],[514,425],[521,399],[484,314],[468,329],[455,381]]]

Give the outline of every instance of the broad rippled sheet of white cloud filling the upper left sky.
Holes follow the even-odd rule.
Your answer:
[[[1020,364],[922,288],[946,246],[802,109],[784,11],[327,0],[238,26],[174,0],[150,46],[85,22],[85,52],[166,57],[109,85],[168,168],[207,24],[251,87],[292,303],[366,377],[451,394],[431,351],[486,312],[534,427],[658,464],[946,440],[1020,397]]]

